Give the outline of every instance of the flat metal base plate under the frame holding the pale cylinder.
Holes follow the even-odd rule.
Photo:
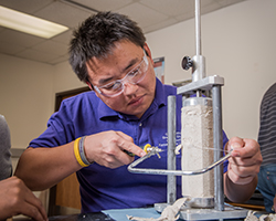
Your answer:
[[[158,212],[167,207],[167,203],[156,203],[155,209]],[[184,208],[180,210],[180,219],[182,220],[223,220],[223,219],[240,219],[246,218],[248,210],[233,207],[224,203],[224,211],[217,211],[215,209],[193,209]]]

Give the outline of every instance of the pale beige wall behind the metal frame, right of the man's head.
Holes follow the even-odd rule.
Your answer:
[[[223,123],[230,137],[257,138],[261,98],[276,82],[276,1],[248,0],[202,15],[206,75],[224,77]],[[147,34],[153,57],[164,56],[164,81],[185,80],[184,55],[195,54],[194,20]]]

